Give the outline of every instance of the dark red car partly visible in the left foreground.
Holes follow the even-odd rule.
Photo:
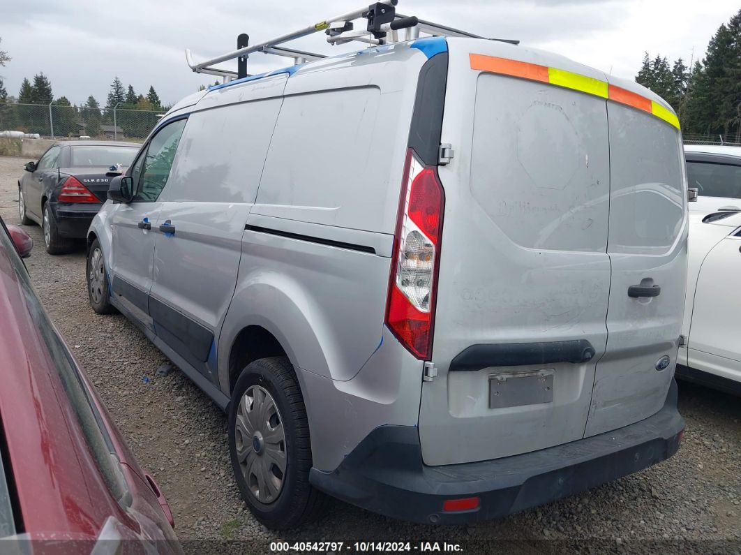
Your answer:
[[[0,227],[0,545],[182,553],[165,497],[36,296],[21,261],[33,242]]]

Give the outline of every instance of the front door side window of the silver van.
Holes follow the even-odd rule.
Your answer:
[[[173,167],[185,122],[185,119],[179,119],[162,127],[150,140],[146,153],[136,160],[131,173],[136,184],[134,200],[154,202],[162,193]]]

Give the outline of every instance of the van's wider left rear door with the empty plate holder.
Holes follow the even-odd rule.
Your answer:
[[[554,64],[537,52],[448,44],[441,141],[455,157],[438,169],[445,219],[432,362],[439,374],[422,385],[419,415],[427,465],[581,439],[595,362],[605,353],[610,288],[605,99],[482,73],[469,62],[474,52]],[[564,69],[600,76],[573,62]],[[582,339],[591,356],[564,362],[573,359],[564,346]],[[508,353],[512,344],[522,348],[530,363],[502,366],[494,357],[483,368],[450,370],[472,345],[501,344]]]

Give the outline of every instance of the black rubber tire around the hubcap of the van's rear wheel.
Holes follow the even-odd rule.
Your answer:
[[[282,486],[276,498],[269,503],[261,502],[257,494],[250,489],[237,454],[237,433],[244,437],[242,432],[237,431],[239,404],[247,390],[254,391],[253,386],[270,393],[285,434],[286,468],[282,474]],[[242,370],[232,393],[227,427],[234,477],[247,507],[259,522],[268,528],[280,530],[295,528],[316,519],[321,514],[326,497],[309,483],[312,465],[309,424],[296,373],[288,358],[276,356],[259,359]],[[260,456],[251,441],[250,443],[245,443],[245,439],[240,441],[243,449],[254,450],[250,455]]]

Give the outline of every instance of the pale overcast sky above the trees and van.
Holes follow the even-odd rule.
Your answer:
[[[110,82],[119,76],[137,93],[152,84],[163,103],[173,103],[214,80],[190,71],[185,47],[196,61],[207,59],[233,50],[239,33],[248,33],[254,44],[363,5],[356,0],[0,0],[0,50],[13,58],[0,67],[0,76],[8,94],[17,96],[24,77],[44,72],[54,96],[75,104],[90,94],[105,104]],[[645,51],[670,60],[681,56],[687,64],[693,51],[695,59],[702,58],[708,39],[739,7],[739,0],[401,0],[397,10],[483,36],[519,39],[632,79]],[[348,45],[328,46],[322,33],[294,44],[328,54],[348,50]],[[287,62],[254,54],[249,71],[292,63]]]

